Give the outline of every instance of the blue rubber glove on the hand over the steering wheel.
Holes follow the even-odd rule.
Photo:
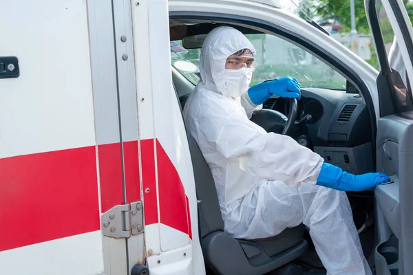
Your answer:
[[[249,88],[248,96],[257,105],[264,103],[273,94],[282,98],[297,98],[297,100],[300,100],[301,91],[299,89],[300,85],[297,79],[284,76]]]

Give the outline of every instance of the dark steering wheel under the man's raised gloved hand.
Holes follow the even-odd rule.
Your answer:
[[[282,135],[288,135],[290,130],[293,129],[295,120],[297,118],[298,102],[295,98],[289,98],[290,110],[288,117],[284,113],[275,111],[275,103],[271,109],[261,109],[255,111],[251,118],[252,122],[262,126],[267,132],[280,133]]]

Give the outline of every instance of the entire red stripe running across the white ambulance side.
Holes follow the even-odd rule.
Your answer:
[[[145,224],[163,223],[189,237],[188,198],[178,172],[154,140],[142,140]],[[98,145],[102,212],[123,204],[120,144]],[[127,201],[140,200],[138,142],[124,142]],[[0,251],[100,229],[95,146],[0,159]]]

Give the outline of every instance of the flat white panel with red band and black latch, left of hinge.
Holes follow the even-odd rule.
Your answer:
[[[103,272],[85,1],[2,1],[0,274]]]

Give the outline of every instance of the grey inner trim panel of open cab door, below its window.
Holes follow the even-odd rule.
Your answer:
[[[377,170],[394,183],[374,190],[377,274],[413,274],[413,111],[379,118]]]

